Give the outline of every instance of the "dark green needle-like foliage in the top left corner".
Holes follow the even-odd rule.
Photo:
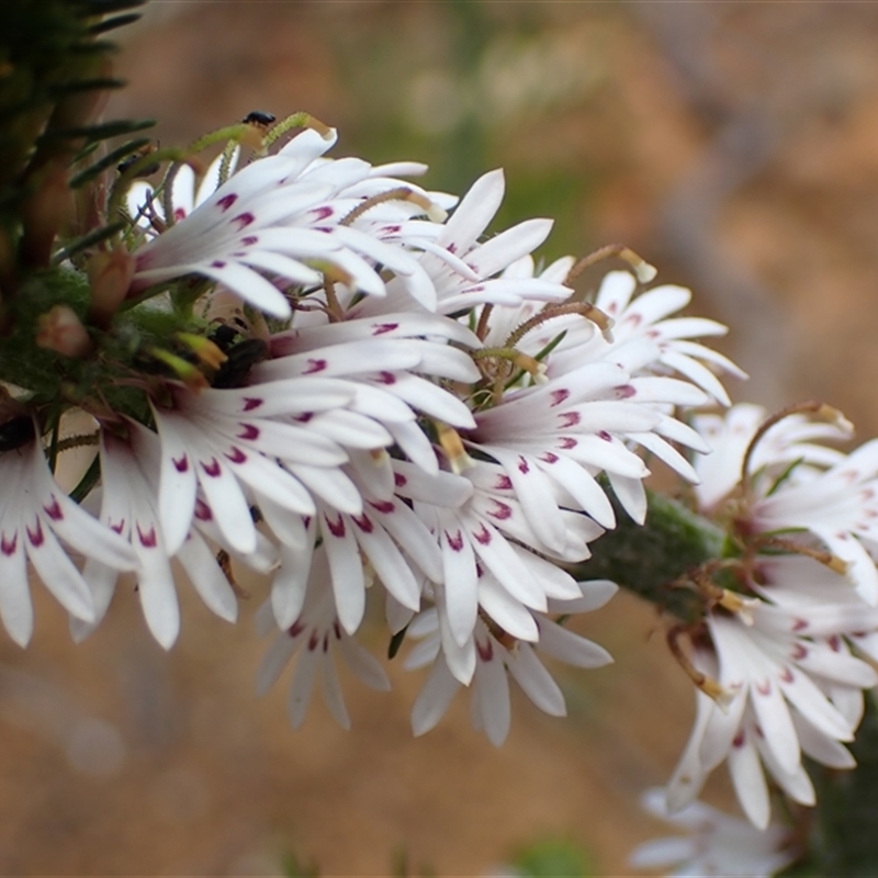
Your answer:
[[[135,13],[105,15],[144,0],[4,0],[0,29],[0,290],[14,293],[48,263],[57,235],[92,233],[58,192],[58,176],[89,144],[151,122],[97,123],[103,95],[124,82],[111,74],[115,46],[99,34]]]

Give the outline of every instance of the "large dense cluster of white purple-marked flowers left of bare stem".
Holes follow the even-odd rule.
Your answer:
[[[679,449],[708,446],[679,413],[728,402],[714,371],[738,370],[697,341],[724,327],[673,316],[689,300],[676,286],[635,295],[634,275],[616,271],[586,301],[574,260],[538,269],[550,221],[487,233],[500,171],[454,206],[402,179],[423,166],[327,158],[335,132],[296,121],[311,127],[275,151],[289,125],[245,121],[210,168],[173,154],[155,185],[136,177],[161,150],[136,159],[110,199],[116,237],[66,263],[54,300],[16,297],[52,381],[0,356],[0,615],[26,643],[30,559],[85,637],[132,571],[170,648],[172,560],[229,621],[232,564],[244,564],[271,577],[263,615],[278,634],[260,687],[299,652],[293,723],[319,665],[347,724],[333,644],[367,684],[387,685],[353,639],[371,595],[394,639],[420,640],[407,665],[430,666],[415,732],[463,686],[498,744],[507,675],[562,714],[538,655],[611,661],[565,620],[616,586],[569,566],[617,508],[643,521],[641,452],[697,480]],[[654,273],[619,252],[641,280]],[[48,319],[59,307],[69,314]],[[72,408],[92,432],[64,435],[58,414]],[[75,497],[100,474],[97,517],[53,476],[66,448],[88,444],[98,455]],[[86,556],[81,571],[59,540]]]

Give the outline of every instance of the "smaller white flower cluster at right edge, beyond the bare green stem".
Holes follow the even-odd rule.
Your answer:
[[[744,812],[764,829],[765,772],[790,799],[811,806],[803,755],[854,766],[844,744],[863,717],[863,690],[878,684],[855,654],[878,657],[878,443],[851,454],[822,444],[848,438],[849,425],[817,421],[809,416],[815,408],[766,420],[761,408],[739,405],[724,418],[695,419],[716,448],[696,463],[696,493],[728,528],[734,578],[690,632],[702,691],[668,785],[672,810],[727,761]]]

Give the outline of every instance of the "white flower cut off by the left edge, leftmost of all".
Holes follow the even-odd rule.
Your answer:
[[[36,440],[0,454],[0,617],[22,646],[33,633],[27,561],[64,608],[94,620],[91,590],[58,541],[115,571],[133,570],[131,545],[92,518],[55,482]]]

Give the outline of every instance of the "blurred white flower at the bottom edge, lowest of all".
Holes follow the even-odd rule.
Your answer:
[[[678,878],[770,878],[798,857],[790,831],[777,823],[761,831],[702,802],[668,813],[662,789],[648,790],[642,803],[688,834],[638,845],[628,860],[635,869],[672,868],[665,874]]]

